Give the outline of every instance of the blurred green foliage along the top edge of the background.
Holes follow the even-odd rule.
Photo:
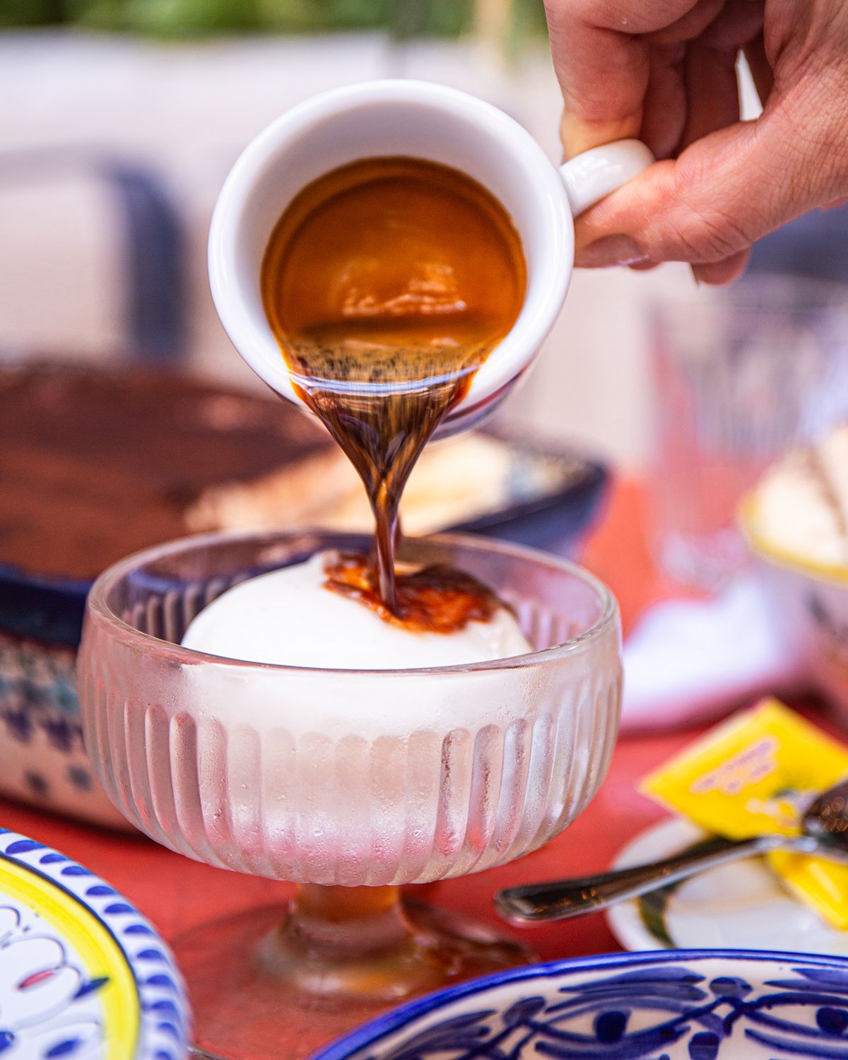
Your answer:
[[[475,0],[0,0],[0,26],[70,22],[172,38],[351,30],[457,37],[473,28],[475,6]],[[544,32],[544,24],[542,0],[512,0],[510,38]]]

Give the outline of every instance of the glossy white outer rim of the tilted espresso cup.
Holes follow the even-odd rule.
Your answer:
[[[302,405],[267,320],[264,315],[257,319],[243,297],[246,281],[238,276],[236,265],[238,231],[261,174],[282,157],[287,144],[325,119],[385,102],[437,107],[446,118],[471,120],[482,128],[520,171],[545,233],[541,252],[535,254],[533,275],[528,275],[518,319],[476,372],[448,421],[473,417],[529,366],[562,308],[573,266],[573,222],[556,166],[527,129],[477,96],[431,82],[363,82],[314,95],[266,126],[240,155],[212,216],[209,276],[215,308],[233,344],[253,371],[272,389]]]

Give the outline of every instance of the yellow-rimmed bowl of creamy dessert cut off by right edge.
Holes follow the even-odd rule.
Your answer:
[[[787,651],[848,722],[848,424],[770,467],[740,525]]]

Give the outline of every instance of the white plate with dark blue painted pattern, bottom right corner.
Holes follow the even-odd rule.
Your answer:
[[[554,961],[388,1013],[314,1060],[848,1058],[848,959],[721,950]]]

